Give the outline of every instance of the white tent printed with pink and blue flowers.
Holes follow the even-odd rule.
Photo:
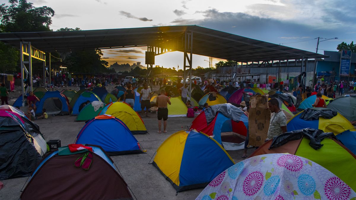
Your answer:
[[[219,174],[196,200],[356,199],[340,178],[303,157],[265,154],[241,161]]]

